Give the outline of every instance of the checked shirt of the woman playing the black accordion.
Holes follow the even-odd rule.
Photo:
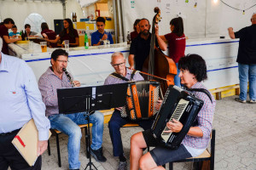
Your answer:
[[[192,88],[207,89],[201,82],[196,82],[192,86]],[[199,99],[202,99],[204,101],[204,105],[202,106],[201,111],[199,111],[198,115],[196,116],[198,125],[195,126],[201,128],[203,137],[200,138],[186,135],[183,139],[182,144],[195,149],[206,149],[210,141],[210,134],[212,133],[212,120],[215,111],[216,100],[212,97],[211,102],[207,94],[201,92],[192,93],[195,94]]]

